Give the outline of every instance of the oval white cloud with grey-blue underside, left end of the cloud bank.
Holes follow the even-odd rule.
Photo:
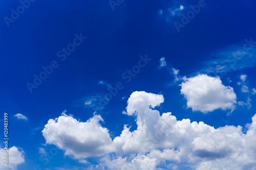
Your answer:
[[[49,119],[42,130],[47,144],[55,144],[65,150],[65,155],[76,159],[102,156],[113,151],[109,130],[102,128],[103,119],[94,115],[87,122],[79,122],[71,115],[63,114]]]

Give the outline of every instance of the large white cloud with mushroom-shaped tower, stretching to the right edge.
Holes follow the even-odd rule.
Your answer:
[[[124,154],[140,153],[137,156],[144,154],[151,160],[156,158],[156,165],[167,160],[177,164],[185,161],[191,163],[193,169],[242,169],[255,166],[252,163],[256,163],[256,149],[252,148],[256,144],[252,140],[256,133],[256,115],[252,117],[253,122],[247,133],[243,134],[241,126],[215,129],[203,122],[177,120],[171,113],[160,116],[157,110],[152,109],[162,102],[162,95],[144,91],[132,93],[126,113],[137,115],[138,128],[130,132],[124,127],[122,134],[113,140],[118,144],[123,142],[119,146]]]

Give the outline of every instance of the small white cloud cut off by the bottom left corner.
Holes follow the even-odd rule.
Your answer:
[[[17,165],[21,163],[25,163],[25,156],[24,151],[22,149],[18,149],[16,147],[11,147],[8,149],[9,159],[8,159],[8,166],[4,165],[4,161],[1,161],[0,169],[12,169],[16,170]],[[4,149],[0,149],[1,157],[5,155]]]

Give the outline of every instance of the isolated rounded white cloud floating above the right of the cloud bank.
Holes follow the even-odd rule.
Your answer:
[[[224,86],[219,77],[198,75],[181,84],[181,94],[185,95],[187,107],[193,111],[209,112],[216,109],[236,108],[237,96],[233,88]]]

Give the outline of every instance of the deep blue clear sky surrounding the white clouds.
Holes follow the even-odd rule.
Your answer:
[[[124,0],[114,11],[108,1],[35,1],[9,23],[10,27],[4,17],[10,18],[11,9],[16,10],[20,3],[0,2],[0,111],[2,115],[9,113],[10,147],[22,148],[26,153],[26,163],[17,168],[32,169],[34,164],[40,164],[43,169],[86,166],[63,156],[59,149],[58,154],[44,165],[38,159],[38,148],[44,147],[41,144],[46,142],[42,129],[50,118],[60,116],[62,111],[67,110],[82,122],[93,116],[95,110],[84,103],[92,96],[108,92],[108,86],[99,81],[111,86],[120,81],[124,85],[104,108],[96,110],[104,119],[102,126],[109,129],[113,138],[120,135],[124,124],[133,125],[131,130],[136,129],[135,117],[122,114],[133,91],[163,94],[165,102],[157,110],[172,112],[178,120],[189,118],[191,122],[202,121],[215,128],[225,125],[245,127],[251,123],[256,110],[255,95],[241,92],[237,82],[241,81],[240,75],[247,75],[249,90],[256,87],[254,59],[241,63],[243,68],[227,69],[221,77],[223,85],[234,88],[237,101],[246,102],[247,96],[251,100],[250,108],[237,105],[229,116],[227,110],[221,109],[207,114],[193,112],[186,107],[186,99],[180,94],[181,82],[167,85],[174,81],[168,68],[179,69],[180,75],[187,78],[195,76],[197,71],[214,76],[200,72],[209,66],[205,63],[220,59],[216,54],[243,48],[245,39],[256,39],[256,2],[206,0],[205,3],[207,5],[178,33],[174,21],[181,22],[180,14],[186,14],[189,6],[197,5],[198,1]],[[185,7],[182,11],[174,16],[168,13],[168,8],[179,8],[180,5]],[[87,39],[61,61],[57,52],[66,48],[76,38],[75,34],[80,33]],[[123,72],[137,65],[139,56],[145,54],[152,60],[125,83],[121,76]],[[167,67],[158,69],[161,57],[165,57]],[[31,93],[26,84],[33,83],[33,75],[39,76],[44,71],[42,66],[50,65],[53,60],[59,66]],[[249,63],[251,66],[247,67]],[[122,100],[124,96],[126,98]],[[28,120],[17,119],[14,117],[17,113],[22,113]],[[52,147],[55,146],[47,145],[45,149]],[[97,164],[96,158],[88,161]]]

